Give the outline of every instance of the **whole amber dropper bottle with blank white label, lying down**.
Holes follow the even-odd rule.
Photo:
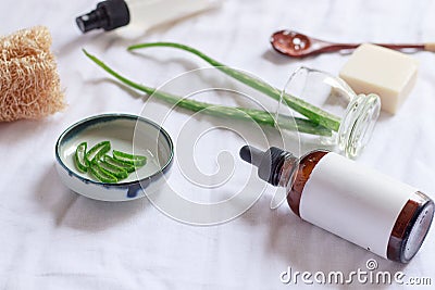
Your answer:
[[[427,196],[334,152],[297,159],[278,148],[245,146],[240,157],[258,166],[261,179],[287,189],[297,216],[385,259],[408,263],[431,227]]]

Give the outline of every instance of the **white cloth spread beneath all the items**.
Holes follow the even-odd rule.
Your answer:
[[[348,274],[366,270],[369,259],[377,261],[378,270],[402,270],[406,277],[428,277],[435,285],[434,229],[414,260],[402,266],[304,223],[286,204],[271,211],[269,194],[232,222],[190,226],[164,215],[147,199],[108,203],[78,196],[61,184],[53,166],[54,143],[67,126],[105,112],[140,114],[144,105],[141,94],[117,86],[85,58],[82,48],[133,79],[160,86],[208,65],[176,50],[149,49],[134,55],[125,48],[145,41],[178,41],[281,88],[301,64],[338,74],[348,56],[332,53],[290,60],[271,49],[273,31],[293,28],[335,41],[433,41],[435,1],[225,1],[219,10],[153,29],[136,40],[103,33],[80,35],[74,18],[95,4],[2,1],[2,35],[39,24],[50,28],[69,108],[45,121],[0,124],[1,289],[284,289],[293,287],[279,280],[288,266],[294,272]],[[420,61],[415,88],[396,116],[381,116],[358,162],[435,198],[435,54],[413,56]],[[162,103],[157,108],[167,110]],[[173,117],[184,121],[187,112],[177,111]],[[198,124],[202,122],[208,121],[198,117]],[[173,131],[178,125],[173,122],[165,127]],[[210,162],[199,164],[211,173],[216,169],[216,150],[237,152],[241,144],[225,131],[213,134],[201,147],[212,157],[203,155]],[[248,171],[247,164],[235,162],[234,176]],[[176,168],[174,164],[171,178],[183,180]],[[194,190],[194,185],[183,186],[184,192]],[[210,190],[204,199],[217,199],[213,192],[219,199],[226,194]],[[297,286],[304,285],[298,280]],[[385,286],[396,287],[394,282]]]

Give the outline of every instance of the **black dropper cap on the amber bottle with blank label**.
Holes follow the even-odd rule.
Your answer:
[[[284,161],[287,157],[294,157],[291,153],[276,147],[271,147],[263,152],[254,147],[244,146],[239,154],[244,161],[258,167],[258,175],[261,179],[273,186],[279,184]]]

